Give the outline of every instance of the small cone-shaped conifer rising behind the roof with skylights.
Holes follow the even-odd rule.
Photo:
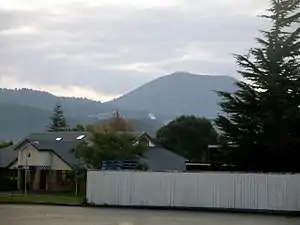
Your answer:
[[[49,132],[69,131],[68,122],[64,116],[62,106],[57,103],[54,106],[53,115],[50,117],[51,124],[48,126]]]

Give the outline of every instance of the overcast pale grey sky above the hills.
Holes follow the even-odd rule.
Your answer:
[[[3,0],[0,87],[108,100],[175,71],[237,77],[268,0]]]

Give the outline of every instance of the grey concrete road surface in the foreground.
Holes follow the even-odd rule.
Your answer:
[[[299,225],[300,218],[181,211],[0,205],[1,225]]]

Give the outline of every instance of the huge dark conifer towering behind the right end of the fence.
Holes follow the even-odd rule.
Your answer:
[[[240,169],[299,170],[300,0],[271,0],[272,27],[259,47],[236,55],[244,81],[235,93],[219,92],[216,124],[226,143],[226,161]],[[228,146],[227,146],[228,147]]]

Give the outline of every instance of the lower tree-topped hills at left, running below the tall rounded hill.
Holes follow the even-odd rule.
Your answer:
[[[77,123],[88,125],[101,122],[112,116],[113,109],[103,107],[102,103],[76,98],[61,98],[47,92],[28,89],[0,89],[0,141],[16,140],[28,133],[41,132],[50,123],[53,106],[57,101],[63,106],[69,125]],[[138,131],[155,134],[162,123],[149,119],[146,112],[120,110],[121,114],[132,120]]]

